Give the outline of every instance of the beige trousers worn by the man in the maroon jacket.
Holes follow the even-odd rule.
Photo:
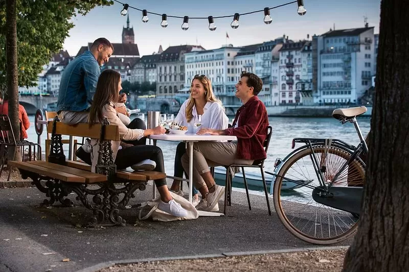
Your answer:
[[[193,184],[196,188],[206,186],[200,176],[210,171],[209,167],[231,164],[253,164],[254,160],[237,158],[236,142],[195,142],[193,144]],[[189,173],[189,151],[182,156],[183,168]]]

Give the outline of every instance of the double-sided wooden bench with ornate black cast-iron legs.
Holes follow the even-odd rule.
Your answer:
[[[110,141],[120,140],[117,126],[103,124],[89,127],[86,123],[75,126],[65,125],[56,117],[49,121],[47,132],[51,133],[51,149],[48,161],[19,162],[9,161],[17,167],[24,179],[30,178],[49,199],[44,204],[53,205],[56,201],[66,206],[74,203],[67,198],[71,192],[77,200],[93,211],[88,226],[95,226],[109,220],[115,225],[125,225],[119,215],[137,189],[145,190],[149,180],[166,178],[166,174],[156,171],[116,170],[112,160]],[[61,135],[100,139],[97,172],[91,166],[79,161],[66,161],[62,150]],[[94,147],[95,148],[95,147]],[[94,186],[92,186],[94,185]]]

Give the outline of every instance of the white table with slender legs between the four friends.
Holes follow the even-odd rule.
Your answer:
[[[197,135],[194,133],[185,134],[161,134],[161,135],[150,135],[148,137],[152,140],[163,140],[163,141],[178,141],[187,142],[189,146],[189,202],[192,202],[192,190],[193,190],[193,143],[198,141],[235,141],[236,136],[227,135]],[[156,193],[155,186],[153,187],[154,197]],[[214,213],[202,212],[200,215],[212,215]]]

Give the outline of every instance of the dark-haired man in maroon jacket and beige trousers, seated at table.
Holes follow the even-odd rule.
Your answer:
[[[263,142],[267,137],[267,110],[257,96],[263,82],[254,73],[241,72],[236,84],[236,97],[243,105],[237,110],[233,127],[225,130],[203,128],[197,134],[234,135],[237,142],[197,142],[193,145],[193,181],[203,201],[196,206],[205,211],[218,211],[224,187],[215,183],[209,166],[248,164],[266,158]],[[182,164],[189,170],[188,154]]]

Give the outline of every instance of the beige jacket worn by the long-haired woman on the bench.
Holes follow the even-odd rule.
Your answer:
[[[118,117],[117,111],[113,103],[109,102],[102,108],[102,115],[109,121],[109,125],[116,125],[119,128],[119,137],[121,140],[139,140],[144,136],[144,130],[140,129],[128,129],[121,119]],[[117,157],[117,153],[120,147],[121,141],[111,141],[111,149],[113,155],[113,161]],[[91,160],[92,171],[95,172],[95,166],[98,163],[98,151],[99,151],[99,139],[91,139]]]

